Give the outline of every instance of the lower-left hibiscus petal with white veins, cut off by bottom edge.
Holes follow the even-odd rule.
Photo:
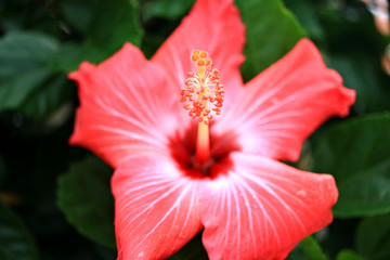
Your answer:
[[[115,230],[120,259],[164,259],[202,229],[198,183],[169,158],[131,158],[115,171]]]

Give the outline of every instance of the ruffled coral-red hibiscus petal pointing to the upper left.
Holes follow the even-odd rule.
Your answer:
[[[81,104],[72,144],[114,167],[123,158],[166,148],[181,107],[177,95],[168,93],[161,69],[138,48],[127,43],[99,66],[84,62],[69,78],[79,84]]]

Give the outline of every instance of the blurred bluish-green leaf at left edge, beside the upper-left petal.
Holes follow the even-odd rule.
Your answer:
[[[18,108],[50,77],[46,68],[57,43],[43,35],[10,32],[0,40],[0,110]]]

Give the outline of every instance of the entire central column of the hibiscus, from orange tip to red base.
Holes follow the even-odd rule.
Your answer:
[[[180,102],[184,103],[188,116],[198,120],[195,165],[207,168],[211,164],[209,120],[213,115],[221,114],[224,90],[219,70],[211,69],[212,61],[206,51],[194,50],[191,60],[195,63],[196,73],[188,73],[185,88],[180,90]]]

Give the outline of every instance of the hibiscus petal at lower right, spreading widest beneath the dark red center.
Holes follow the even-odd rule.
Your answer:
[[[243,153],[231,159],[234,169],[210,181],[200,198],[210,259],[285,259],[332,222],[338,196],[332,176]]]

